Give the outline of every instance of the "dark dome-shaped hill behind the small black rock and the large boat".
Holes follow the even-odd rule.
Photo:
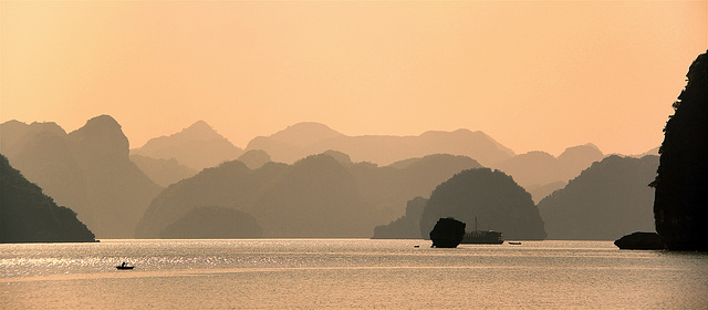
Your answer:
[[[502,231],[514,240],[545,238],[539,209],[513,179],[500,170],[464,170],[433,190],[420,216],[420,236],[426,237],[440,218],[454,217],[480,230]],[[473,225],[468,230],[475,229]]]

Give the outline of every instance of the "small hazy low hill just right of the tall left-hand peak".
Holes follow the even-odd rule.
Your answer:
[[[133,154],[131,155],[131,161],[162,187],[167,187],[197,174],[197,170],[179,164],[175,158],[157,159]]]

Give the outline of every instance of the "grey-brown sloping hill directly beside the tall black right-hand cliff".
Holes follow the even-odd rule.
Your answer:
[[[653,231],[652,202],[657,156],[612,155],[594,163],[539,203],[549,239],[615,240]]]

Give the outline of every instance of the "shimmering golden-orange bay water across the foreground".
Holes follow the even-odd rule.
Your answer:
[[[610,241],[0,245],[0,309],[707,309],[708,255]],[[416,248],[415,246],[419,247]],[[114,266],[134,264],[129,271]]]

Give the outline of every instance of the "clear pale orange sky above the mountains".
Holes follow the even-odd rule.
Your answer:
[[[204,120],[639,154],[708,49],[708,1],[0,3],[0,122],[108,114],[131,147]]]

